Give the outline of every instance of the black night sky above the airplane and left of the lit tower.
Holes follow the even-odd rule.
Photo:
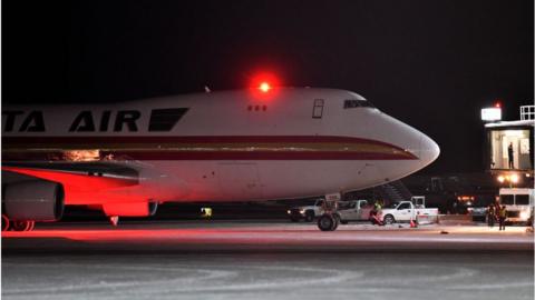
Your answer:
[[[2,1],[2,104],[285,86],[356,91],[483,171],[479,109],[534,99],[534,1]]]

